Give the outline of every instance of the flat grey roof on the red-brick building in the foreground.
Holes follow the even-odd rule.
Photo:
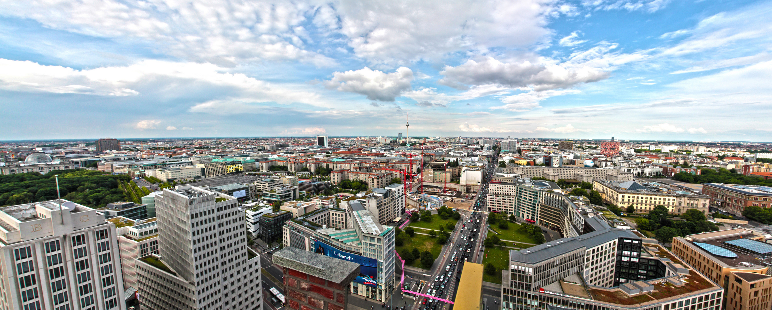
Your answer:
[[[293,247],[273,253],[273,263],[338,284],[353,281],[360,272],[357,263]]]

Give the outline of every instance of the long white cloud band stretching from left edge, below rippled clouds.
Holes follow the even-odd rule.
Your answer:
[[[36,62],[0,59],[0,89],[20,92],[79,93],[98,96],[137,96],[148,89],[154,96],[185,96],[201,89],[225,90],[229,96],[253,102],[308,103],[326,106],[316,93],[276,86],[211,63],[144,60],[128,66],[76,70]],[[152,81],[152,83],[148,83]]]

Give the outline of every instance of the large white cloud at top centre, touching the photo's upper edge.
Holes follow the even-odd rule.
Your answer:
[[[402,65],[439,60],[459,50],[527,47],[550,35],[548,15],[571,11],[542,0],[425,0],[409,5],[364,1],[335,6],[340,32],[358,57]]]

